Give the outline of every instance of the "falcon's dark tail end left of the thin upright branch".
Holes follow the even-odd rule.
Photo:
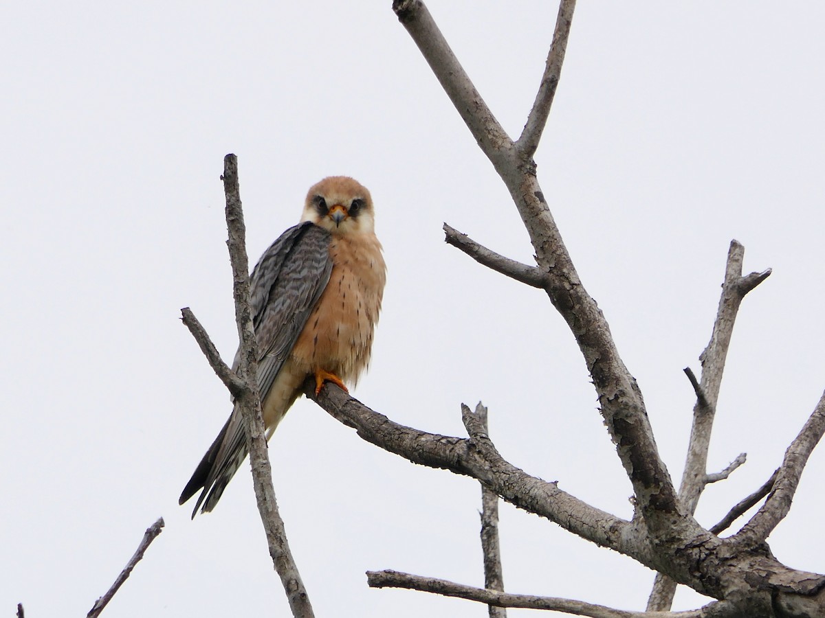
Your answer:
[[[246,459],[247,441],[241,421],[239,410],[233,410],[224,428],[200,460],[192,478],[183,488],[178,504],[185,503],[203,488],[192,511],[192,519],[195,518],[201,504],[203,508],[200,513],[209,513],[214,508],[226,485]]]

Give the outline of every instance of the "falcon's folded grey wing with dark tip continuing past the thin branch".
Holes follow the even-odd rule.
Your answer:
[[[258,389],[261,400],[275,382],[295,341],[309,319],[332,273],[329,232],[311,222],[290,227],[272,243],[252,269],[250,305],[258,344]],[[238,350],[238,353],[240,350]],[[233,368],[238,368],[238,353]],[[208,513],[247,456],[246,433],[237,406],[186,484],[180,503],[201,487],[200,504]]]

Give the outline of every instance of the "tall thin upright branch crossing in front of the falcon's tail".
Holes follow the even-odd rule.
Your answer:
[[[272,471],[266,452],[266,428],[261,412],[261,397],[257,386],[257,339],[252,326],[249,307],[249,261],[246,250],[246,227],[243,224],[240,188],[238,185],[238,157],[224,157],[224,192],[226,194],[226,222],[229,227],[229,258],[232,261],[235,319],[241,341],[238,352],[238,377],[244,387],[236,398],[243,412],[247,433],[247,447],[252,464],[258,511],[261,513],[266,542],[272,564],[281,578],[290,609],[295,618],[313,618],[309,595],[301,581],[298,566],[292,558],[290,545],[272,486]]]

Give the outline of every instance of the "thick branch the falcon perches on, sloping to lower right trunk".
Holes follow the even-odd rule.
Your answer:
[[[800,594],[811,594],[810,591],[815,591],[825,582],[823,576],[788,569],[768,555],[752,555],[746,551],[739,555],[727,553],[724,559],[717,559],[715,556],[721,549],[722,541],[707,531],[691,536],[691,541],[686,541],[691,546],[684,547],[678,555],[662,556],[650,546],[643,524],[626,522],[610,513],[603,513],[563,492],[556,484],[535,479],[504,461],[469,409],[463,410],[463,419],[468,433],[474,437],[470,440],[396,424],[329,383],[323,386],[317,397],[311,380],[305,383],[304,388],[309,399],[315,400],[342,424],[356,428],[359,437],[365,441],[414,463],[471,476],[517,507],[547,517],[584,539],[610,546],[622,553],[629,552],[627,555],[641,564],[667,571],[680,578],[681,583],[689,584],[709,596],[724,597],[728,587],[737,591],[749,590],[752,607],[770,607],[771,590],[752,589],[747,583],[747,574],[753,569],[768,574],[764,581],[775,581],[777,586],[781,585],[784,591],[781,594],[789,599]],[[697,562],[691,557],[693,555],[700,555],[703,560]],[[681,556],[687,559],[683,561]],[[694,568],[698,565],[713,577],[705,578],[705,570],[692,574],[682,570],[685,569],[684,564]],[[721,575],[723,572],[724,576]],[[720,582],[717,578],[729,580],[722,584],[724,587],[718,587]],[[756,618],[762,614],[752,613],[749,616]]]

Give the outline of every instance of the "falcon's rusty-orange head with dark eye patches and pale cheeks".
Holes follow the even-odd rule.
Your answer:
[[[370,192],[349,176],[324,178],[309,189],[301,221],[332,234],[369,234],[375,223]]]

